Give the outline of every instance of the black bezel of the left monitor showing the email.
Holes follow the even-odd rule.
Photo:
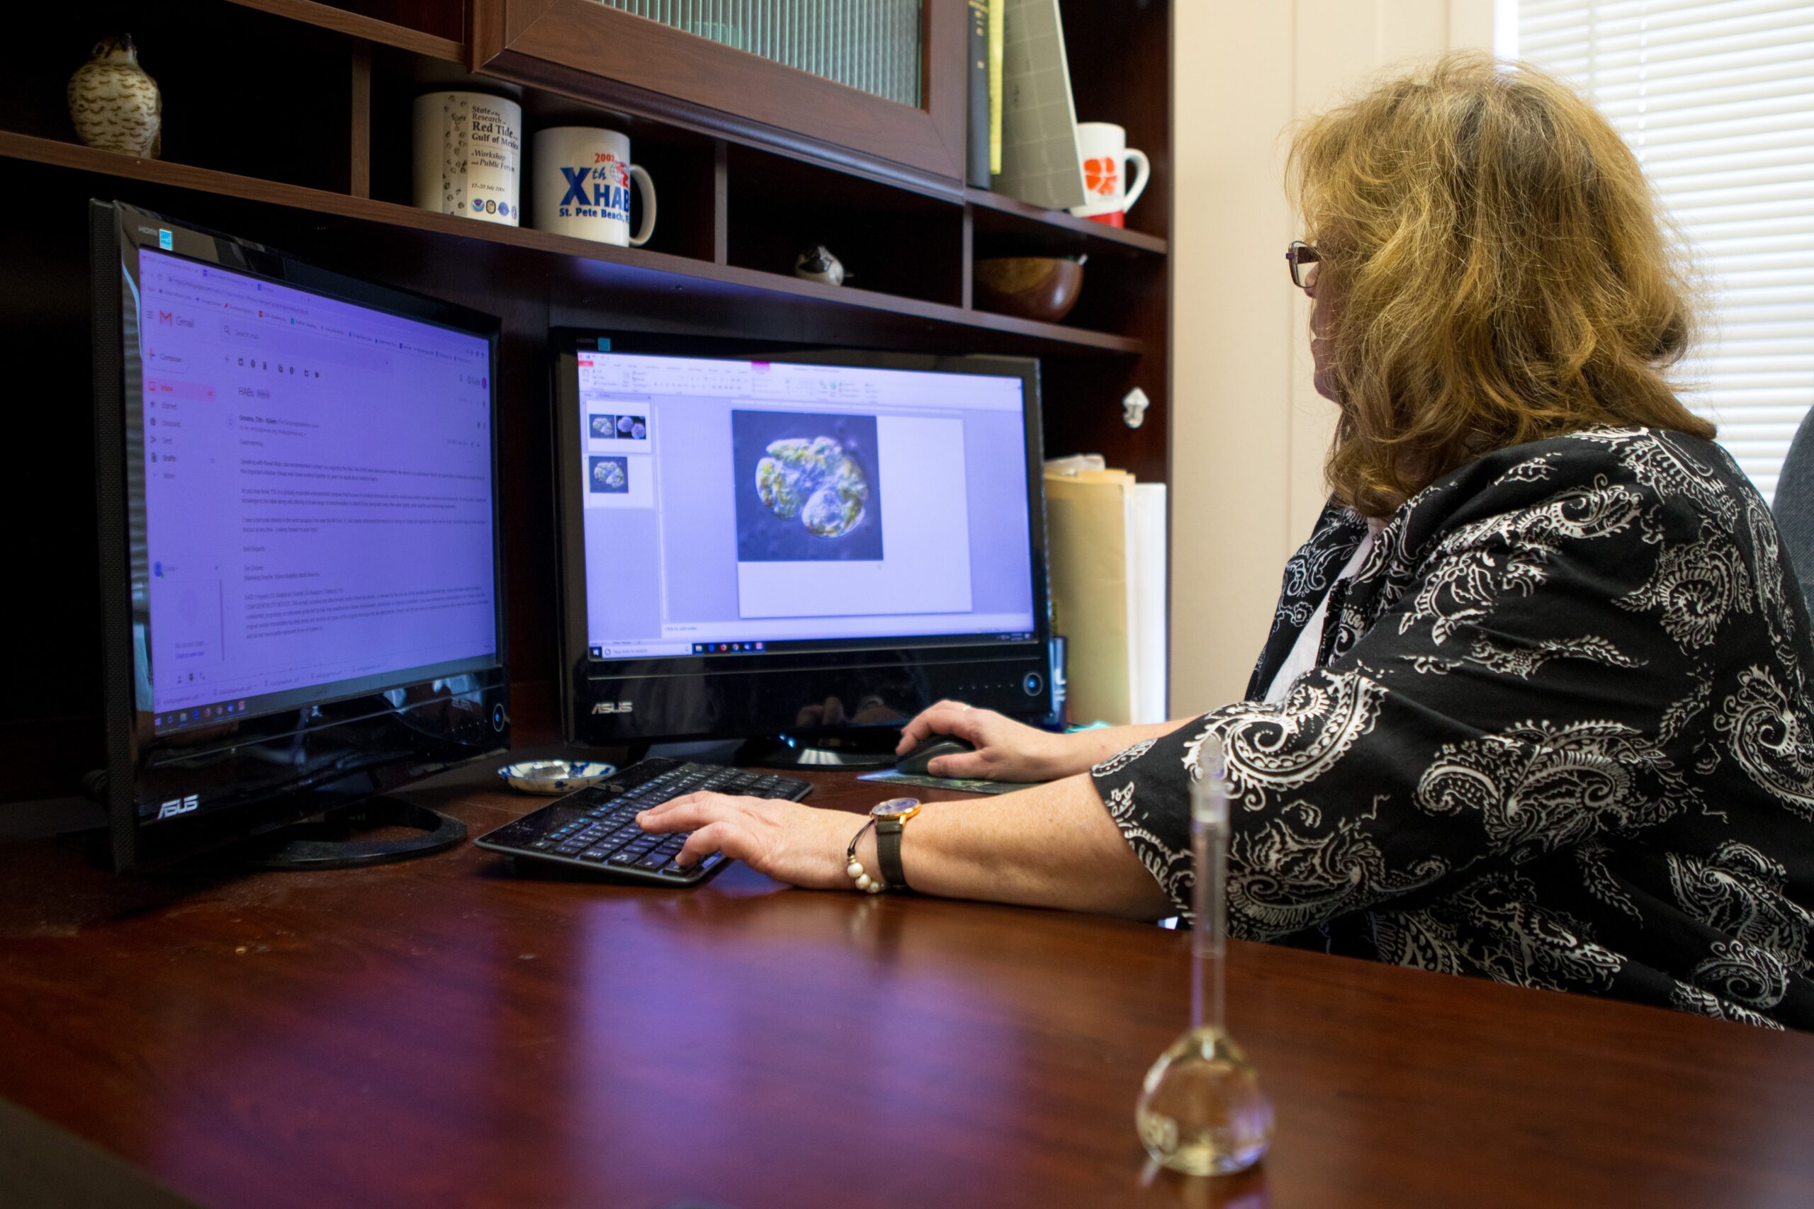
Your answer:
[[[403,788],[472,759],[510,747],[508,616],[502,517],[502,457],[499,439],[499,337],[495,317],[435,297],[350,277],[261,243],[172,219],[123,201],[91,201],[91,292],[94,337],[96,493],[100,513],[103,698],[107,723],[105,805],[116,868],[160,866],[258,836],[299,819],[341,810],[377,794]],[[136,692],[134,567],[131,555],[131,500],[143,498],[143,464],[131,451],[134,417],[143,399],[127,399],[136,381],[129,373],[122,276],[140,279],[141,248],[218,265],[327,299],[381,310],[479,337],[488,359],[488,431],[492,435],[492,575],[497,604],[495,654],[483,667],[472,660],[410,669],[408,678],[383,687],[328,692],[308,705],[247,714],[218,732],[158,736],[151,711]],[[136,484],[136,486],[134,486]],[[446,685],[455,680],[461,691]],[[386,696],[392,694],[392,696]],[[401,700],[394,700],[401,694]],[[414,700],[412,700],[414,696]],[[296,714],[290,723],[272,721]],[[285,778],[270,774],[276,747],[299,754],[328,749],[346,736],[372,736],[374,756],[357,767],[321,767]],[[214,761],[227,772],[219,803],[172,817],[145,817],[141,801],[172,792],[163,772],[172,740],[189,763]],[[388,747],[386,747],[388,745]],[[160,759],[163,758],[163,759]],[[305,765],[307,767],[307,761]],[[243,776],[230,776],[239,770]]]

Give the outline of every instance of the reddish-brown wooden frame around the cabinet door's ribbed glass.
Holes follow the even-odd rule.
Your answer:
[[[475,71],[751,143],[831,160],[838,160],[836,150],[856,152],[862,160],[892,161],[912,174],[961,185],[965,0],[922,0],[916,105],[599,0],[472,4]],[[688,11],[686,4],[658,0],[628,7],[657,16]],[[862,2],[818,0],[814,9],[800,0],[789,9],[784,0],[720,0],[709,7],[720,13],[713,33],[727,29],[724,11],[747,13],[738,20],[758,31],[782,9],[822,13],[816,20],[825,36],[838,38],[851,36],[847,25]],[[762,42],[755,33],[749,40]]]

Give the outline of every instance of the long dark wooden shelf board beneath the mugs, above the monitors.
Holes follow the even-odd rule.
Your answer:
[[[370,198],[352,198],[346,194],[308,189],[303,185],[283,185],[232,172],[196,169],[181,163],[160,160],[136,160],[112,152],[80,147],[58,140],[34,138],[29,134],[0,132],[0,156],[25,160],[33,163],[94,172],[122,179],[147,181],[174,189],[189,189],[223,198],[241,198],[247,201],[265,201],[279,207],[292,207],[312,214],[325,214],[363,223],[377,223],[392,228],[428,232],[434,236],[473,241],[481,245],[501,245],[524,248],[530,252],[561,257],[566,276],[597,285],[599,270],[615,274],[613,285],[622,288],[658,295],[673,290],[693,290],[695,295],[707,297],[749,297],[769,295],[775,299],[793,299],[795,306],[809,306],[818,312],[883,312],[905,319],[918,319],[929,328],[969,332],[990,332],[1012,341],[1018,352],[1029,353],[1125,353],[1141,355],[1145,341],[1112,335],[1107,332],[1088,332],[1067,328],[1052,323],[1032,323],[1012,315],[994,315],[989,312],[965,310],[943,303],[929,303],[911,297],[874,294],[853,286],[827,286],[816,281],[800,281],[778,274],[736,268],[731,265],[713,265],[682,256],[666,256],[642,248],[620,248],[590,239],[557,236],[524,227],[501,227],[455,218],[450,214],[432,214],[415,207]],[[994,341],[1001,346],[1003,341]]]

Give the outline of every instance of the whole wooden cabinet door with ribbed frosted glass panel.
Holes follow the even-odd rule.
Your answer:
[[[969,0],[470,0],[472,69],[963,190]]]

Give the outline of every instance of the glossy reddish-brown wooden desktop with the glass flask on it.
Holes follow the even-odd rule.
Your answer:
[[[475,830],[530,805],[421,798]],[[1237,944],[1272,1156],[1145,1182],[1183,933],[744,866],[512,879],[472,845],[218,885],[0,865],[0,1097],[207,1205],[1814,1204],[1807,1035]]]

